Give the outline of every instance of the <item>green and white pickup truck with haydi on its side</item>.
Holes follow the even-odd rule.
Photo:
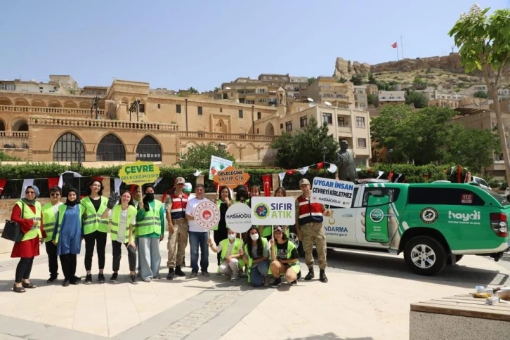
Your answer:
[[[357,184],[351,207],[332,211],[324,221],[328,247],[403,252],[420,275],[468,254],[498,261],[510,247],[510,202],[476,183]]]

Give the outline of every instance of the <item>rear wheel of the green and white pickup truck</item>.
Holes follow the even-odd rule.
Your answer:
[[[405,244],[404,259],[412,272],[432,276],[445,268],[446,251],[438,240],[429,236],[417,236]]]

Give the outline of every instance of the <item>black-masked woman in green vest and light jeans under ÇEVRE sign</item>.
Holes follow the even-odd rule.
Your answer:
[[[143,190],[143,208],[138,207],[136,214],[136,235],[140,252],[140,277],[143,282],[159,280],[159,242],[164,238],[165,211],[161,201],[154,199],[154,185],[145,185]]]

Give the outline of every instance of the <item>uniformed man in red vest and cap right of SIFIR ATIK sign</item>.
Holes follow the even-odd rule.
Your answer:
[[[319,280],[327,282],[326,270],[326,233],[322,225],[322,215],[331,216],[331,211],[327,211],[324,204],[310,202],[310,181],[303,178],[299,181],[301,188],[301,196],[296,199],[296,232],[299,240],[303,241],[303,249],[305,251],[306,266],[308,274],[306,281],[315,277],[313,272],[313,244],[317,249],[319,256]]]

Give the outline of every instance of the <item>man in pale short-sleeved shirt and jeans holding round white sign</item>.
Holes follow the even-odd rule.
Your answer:
[[[198,275],[198,248],[200,247],[200,269],[202,275],[209,276],[207,267],[209,267],[209,245],[207,239],[209,238],[209,231],[204,230],[198,225],[195,220],[195,213],[197,205],[202,202],[210,202],[204,197],[205,188],[203,184],[197,184],[195,187],[195,195],[197,197],[188,201],[186,204],[186,218],[188,219],[188,234],[190,235],[190,255],[191,255],[191,275],[190,277],[197,277]],[[214,207],[216,204],[212,203]],[[211,226],[214,228],[214,225]]]

